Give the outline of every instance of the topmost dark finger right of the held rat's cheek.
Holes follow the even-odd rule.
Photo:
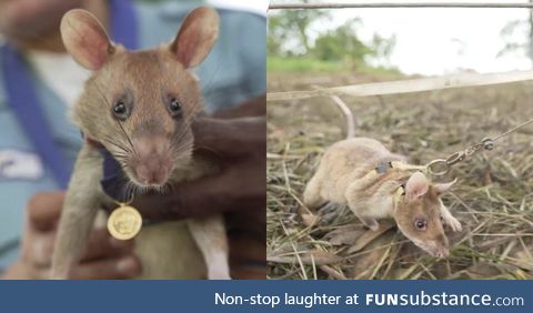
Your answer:
[[[215,151],[222,156],[266,154],[266,120],[264,117],[239,119],[198,118],[192,124],[194,148]]]

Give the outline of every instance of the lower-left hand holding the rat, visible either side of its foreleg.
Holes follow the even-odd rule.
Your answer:
[[[36,194],[26,209],[20,258],[2,279],[48,279],[64,192]],[[82,260],[72,269],[72,280],[130,279],[140,271],[132,241],[112,239],[105,229],[93,230]]]

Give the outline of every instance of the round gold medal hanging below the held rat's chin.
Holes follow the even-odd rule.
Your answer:
[[[130,240],[134,238],[142,226],[142,216],[135,208],[124,203],[108,218],[108,230],[118,240]]]

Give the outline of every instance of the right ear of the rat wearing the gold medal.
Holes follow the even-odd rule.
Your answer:
[[[214,9],[200,7],[183,20],[170,50],[185,69],[200,64],[219,37],[219,14]]]

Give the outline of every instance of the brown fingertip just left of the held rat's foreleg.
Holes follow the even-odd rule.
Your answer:
[[[64,192],[40,192],[34,194],[26,206],[29,226],[39,231],[52,229],[63,209]]]

